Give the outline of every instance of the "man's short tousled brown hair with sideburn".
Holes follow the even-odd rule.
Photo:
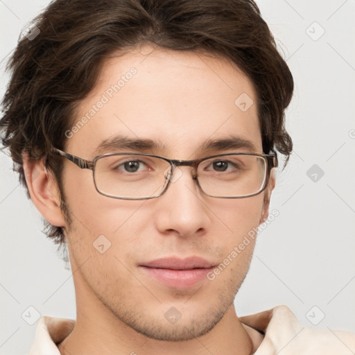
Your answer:
[[[19,40],[8,62],[12,76],[0,121],[2,144],[21,182],[21,154],[27,152],[31,159],[46,158],[62,191],[62,166],[49,159],[51,146],[65,148],[76,104],[94,88],[103,60],[145,43],[235,62],[257,91],[263,151],[275,147],[287,162],[292,141],[284,110],[293,77],[254,1],[56,0],[34,24],[40,33]],[[62,228],[46,226],[46,234],[64,245]]]

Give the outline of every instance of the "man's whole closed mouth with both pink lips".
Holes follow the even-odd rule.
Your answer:
[[[200,257],[179,259],[175,257],[157,259],[139,265],[142,272],[157,282],[171,288],[191,288],[207,279],[207,274],[215,267]]]

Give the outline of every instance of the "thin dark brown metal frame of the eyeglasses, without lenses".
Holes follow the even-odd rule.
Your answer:
[[[259,195],[259,193],[261,193],[262,191],[264,191],[266,189],[266,187],[268,186],[268,182],[270,180],[270,172],[272,168],[277,168],[278,166],[278,159],[277,159],[277,153],[275,152],[275,150],[271,149],[270,150],[270,154],[261,154],[261,153],[225,153],[225,154],[218,154],[218,155],[210,155],[209,157],[203,157],[200,159],[193,159],[193,160],[180,160],[180,159],[168,159],[165,157],[160,157],[159,155],[153,155],[153,154],[146,154],[146,153],[105,153],[105,154],[101,154],[101,155],[97,155],[96,157],[94,157],[94,159],[92,160],[87,160],[87,159],[83,159],[80,157],[77,157],[76,155],[72,155],[69,154],[67,152],[64,152],[63,150],[60,150],[58,148],[51,148],[51,153],[55,154],[55,155],[60,155],[61,157],[64,157],[66,159],[68,159],[70,162],[72,162],[73,164],[76,164],[76,166],[78,166],[81,169],[89,169],[92,170],[92,178],[94,180],[94,186],[95,189],[98,193],[100,193],[103,196],[107,196],[110,198],[118,198],[120,200],[150,200],[152,198],[157,198],[159,196],[162,196],[163,193],[166,192],[166,190],[168,189],[168,186],[171,182],[171,176],[173,176],[173,172],[174,172],[174,168],[176,166],[191,166],[193,168],[194,171],[194,175],[193,175],[193,180],[196,181],[198,188],[200,189],[200,191],[205,195],[205,196],[209,196],[209,197],[213,197],[213,198],[247,198],[247,197],[252,197],[252,196],[256,196]],[[114,196],[114,195],[110,195],[108,193],[104,193],[102,191],[100,191],[98,189],[98,187],[96,186],[96,181],[95,181],[95,166],[96,166],[96,162],[99,159],[102,159],[103,157],[108,157],[108,156],[114,156],[114,155],[144,155],[146,157],[155,157],[155,158],[159,158],[159,159],[163,159],[166,162],[168,162],[170,164],[170,175],[166,176],[166,183],[165,186],[162,190],[162,192],[160,192],[158,195],[155,196],[150,196],[148,198],[124,198],[124,197],[119,197],[119,196]],[[257,191],[256,193],[251,193],[249,195],[243,195],[243,196],[213,196],[213,195],[209,195],[209,193],[206,193],[205,191],[203,191],[202,187],[200,186],[200,182],[198,182],[198,176],[196,175],[196,172],[198,170],[198,165],[201,162],[204,162],[207,159],[211,159],[214,157],[225,157],[228,155],[252,155],[255,157],[261,157],[265,160],[266,162],[266,177],[264,179],[263,182],[263,186],[261,187],[261,189],[259,191]]]

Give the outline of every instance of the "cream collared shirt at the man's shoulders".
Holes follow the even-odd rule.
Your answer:
[[[239,320],[250,334],[254,355],[355,354],[355,334],[303,327],[287,306],[277,306]],[[74,324],[75,320],[64,318],[40,318],[28,355],[60,355],[55,344],[71,333]]]

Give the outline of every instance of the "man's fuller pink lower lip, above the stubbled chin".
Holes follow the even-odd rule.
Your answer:
[[[148,275],[173,288],[189,288],[207,279],[207,274],[213,268],[200,268],[191,270],[172,270],[160,268],[148,268],[140,266]]]

